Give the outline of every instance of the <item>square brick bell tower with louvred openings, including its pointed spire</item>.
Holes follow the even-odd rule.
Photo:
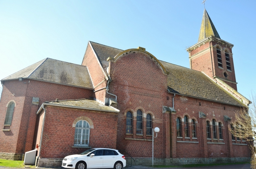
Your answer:
[[[237,90],[232,45],[220,38],[206,9],[203,12],[198,42],[187,49],[190,69],[221,80]]]

